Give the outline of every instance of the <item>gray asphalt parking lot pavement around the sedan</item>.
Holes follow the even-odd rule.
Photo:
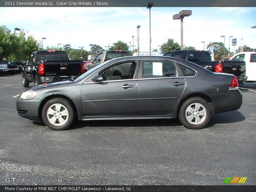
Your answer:
[[[0,185],[222,185],[225,177],[255,185],[256,84],[242,88],[242,107],[213,115],[202,130],[173,119],[52,131],[18,116],[12,97],[26,89],[21,74],[0,76]]]

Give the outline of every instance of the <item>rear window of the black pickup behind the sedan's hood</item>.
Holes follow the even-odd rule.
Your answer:
[[[62,51],[55,51],[55,52],[48,52],[48,51],[40,51],[36,53],[36,61],[40,60],[69,60],[66,52]]]

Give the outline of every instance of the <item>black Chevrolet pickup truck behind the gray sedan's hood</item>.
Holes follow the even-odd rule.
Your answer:
[[[22,70],[22,83],[28,87],[76,78],[84,73],[82,60],[69,60],[65,51],[36,51],[31,53]]]

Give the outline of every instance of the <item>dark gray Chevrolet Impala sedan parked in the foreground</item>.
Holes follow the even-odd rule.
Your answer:
[[[32,87],[20,95],[22,117],[65,130],[78,120],[179,118],[201,129],[211,115],[239,109],[237,78],[164,56],[122,57],[76,79]]]

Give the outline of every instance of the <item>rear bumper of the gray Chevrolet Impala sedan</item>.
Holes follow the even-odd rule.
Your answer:
[[[214,113],[237,110],[242,105],[242,92],[239,89],[229,90],[228,94],[214,102]]]

